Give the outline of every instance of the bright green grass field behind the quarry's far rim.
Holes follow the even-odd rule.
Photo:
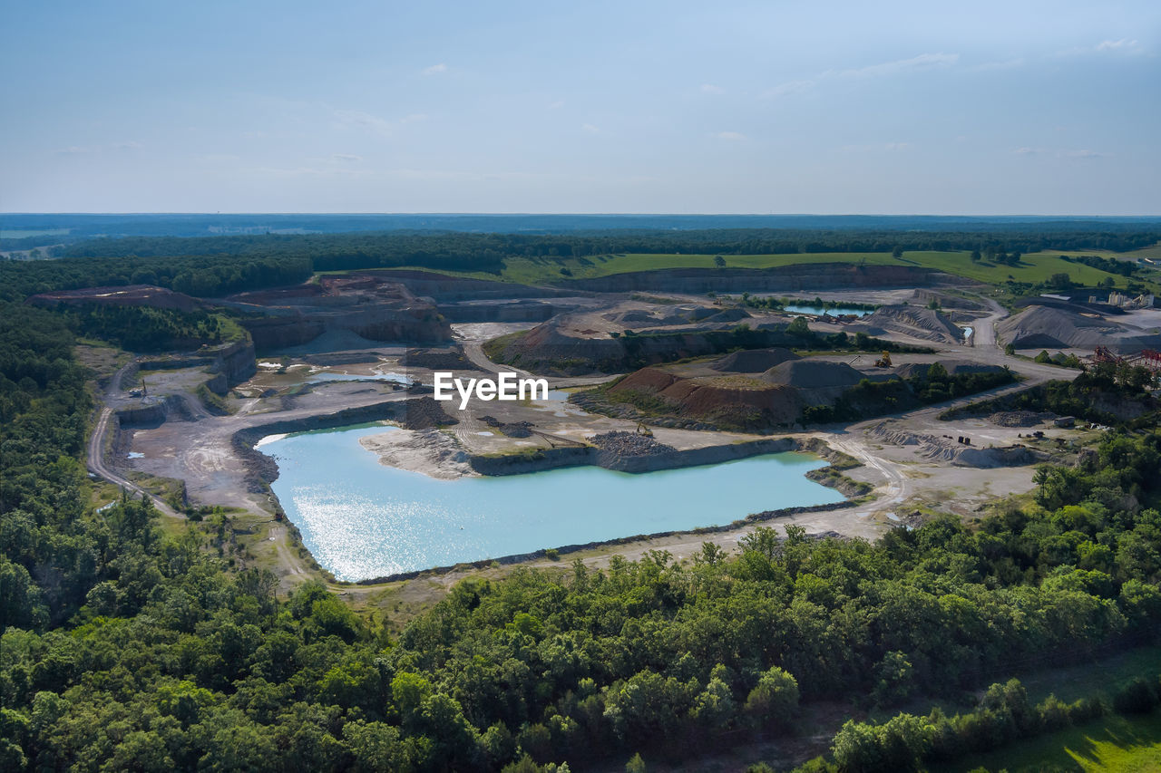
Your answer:
[[[973,263],[967,252],[904,252],[902,258],[893,258],[886,252],[820,252],[784,255],[723,255],[729,268],[776,268],[808,263],[866,263],[873,266],[920,266],[964,276],[987,284],[1002,284],[1008,280],[1039,283],[1058,273],[1068,274],[1074,282],[1095,286],[1112,277],[1117,287],[1125,287],[1125,277],[1091,268],[1082,263],[1061,260],[1061,252],[1043,252],[1024,255],[1018,266],[1001,266],[988,262]],[[1076,254],[1113,253],[1088,251]],[[562,274],[568,269],[571,276]],[[499,274],[482,272],[446,272],[456,276],[502,280],[518,284],[567,283],[569,279],[611,276],[629,272],[648,272],[666,268],[714,268],[714,255],[704,254],[619,254],[593,258],[511,258]],[[411,269],[425,270],[425,269]],[[1152,279],[1152,277],[1151,277]],[[1154,291],[1161,284],[1145,282]]]

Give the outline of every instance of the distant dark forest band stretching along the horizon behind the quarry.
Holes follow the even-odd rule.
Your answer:
[[[231,237],[125,237],[71,245],[58,260],[0,261],[0,297],[106,284],[160,284],[195,296],[302,282],[311,272],[417,266],[499,273],[509,258],[616,253],[793,254],[973,250],[1133,250],[1156,243],[1155,225],[1083,231],[1048,224],[967,231],[717,229],[513,234],[355,232]]]

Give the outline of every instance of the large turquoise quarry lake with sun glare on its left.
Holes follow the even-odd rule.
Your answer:
[[[378,463],[361,425],[265,439],[274,493],[307,548],[360,580],[616,537],[729,523],[843,496],[806,477],[824,461],[785,453],[630,475],[575,467],[441,481]]]

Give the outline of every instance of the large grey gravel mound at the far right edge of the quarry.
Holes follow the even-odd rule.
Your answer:
[[[1045,305],[1029,306],[1004,319],[996,325],[996,333],[1018,349],[1106,346],[1113,352],[1137,352],[1161,346],[1161,333]]]

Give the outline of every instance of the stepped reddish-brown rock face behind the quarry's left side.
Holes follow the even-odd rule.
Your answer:
[[[452,337],[431,302],[372,276],[324,277],[317,284],[245,292],[225,303],[261,315],[241,320],[259,352],[301,346],[332,331],[392,342],[435,344]]]

